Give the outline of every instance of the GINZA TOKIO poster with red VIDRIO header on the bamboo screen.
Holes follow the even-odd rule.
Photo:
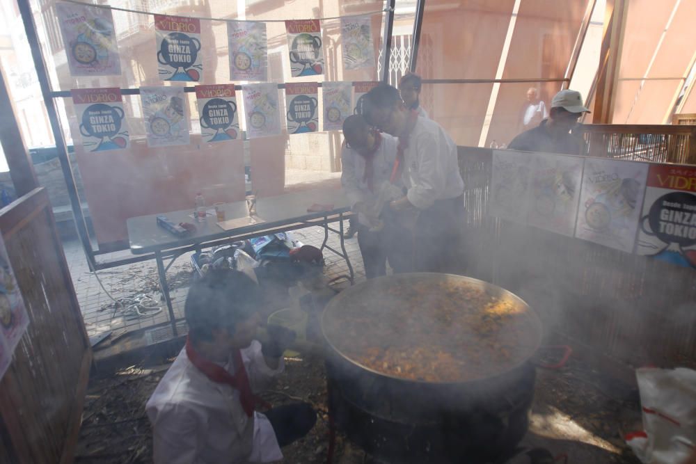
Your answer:
[[[650,166],[635,253],[696,268],[696,166]]]

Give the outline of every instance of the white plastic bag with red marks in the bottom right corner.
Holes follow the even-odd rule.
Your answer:
[[[644,431],[628,434],[628,446],[643,463],[685,463],[696,446],[696,371],[642,368],[635,376]]]

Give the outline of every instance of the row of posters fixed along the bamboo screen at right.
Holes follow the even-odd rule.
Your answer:
[[[696,167],[493,152],[493,216],[696,268]]]

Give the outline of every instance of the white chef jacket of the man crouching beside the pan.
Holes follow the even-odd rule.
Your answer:
[[[253,391],[283,371],[270,369],[254,340],[242,350]],[[232,355],[224,369],[234,374]],[[247,417],[239,391],[211,381],[191,363],[186,349],[177,356],[145,405],[154,428],[156,464],[267,463],[283,458],[271,422],[261,413]]]

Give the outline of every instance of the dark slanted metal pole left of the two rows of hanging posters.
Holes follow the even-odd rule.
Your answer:
[[[51,122],[53,138],[56,142],[56,151],[58,152],[58,159],[61,161],[65,184],[68,187],[68,195],[70,196],[70,205],[72,206],[72,214],[74,215],[77,233],[80,236],[82,248],[84,248],[85,255],[87,256],[87,263],[89,264],[90,271],[94,271],[94,250],[89,240],[87,225],[84,215],[82,214],[79,197],[77,196],[77,186],[72,176],[72,169],[70,168],[70,159],[68,159],[68,149],[65,147],[61,120],[58,116],[58,111],[56,111],[56,104],[51,97],[51,82],[49,81],[48,72],[46,70],[46,63],[41,54],[41,45],[36,35],[36,24],[34,23],[34,18],[31,13],[31,4],[29,0],[17,0],[17,6],[19,7],[19,14],[22,15],[26,40],[29,42],[29,47],[31,47],[31,58],[34,61],[36,75],[41,87],[41,94],[44,99],[44,104],[46,105],[46,112]]]

